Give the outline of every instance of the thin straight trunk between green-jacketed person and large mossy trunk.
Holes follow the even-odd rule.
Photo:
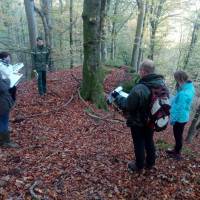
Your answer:
[[[73,0],[70,0],[70,28],[69,28],[69,44],[70,44],[70,68],[73,68]]]

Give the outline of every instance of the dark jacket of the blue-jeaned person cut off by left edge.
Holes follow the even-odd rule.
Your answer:
[[[0,115],[10,111],[14,102],[9,93],[10,81],[9,79],[2,79],[0,74]]]

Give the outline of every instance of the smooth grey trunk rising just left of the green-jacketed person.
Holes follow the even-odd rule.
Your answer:
[[[33,0],[24,0],[25,12],[28,22],[28,31],[29,31],[29,40],[31,49],[36,46],[37,38],[37,25],[34,15],[34,1]],[[33,63],[32,63],[33,64]],[[27,77],[31,77],[31,67],[26,70]]]

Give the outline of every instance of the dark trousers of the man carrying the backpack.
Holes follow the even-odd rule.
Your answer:
[[[153,130],[149,127],[131,127],[131,134],[134,144],[134,152],[136,157],[136,166],[139,169],[144,168],[145,153],[146,166],[155,165],[155,146],[153,141]]]

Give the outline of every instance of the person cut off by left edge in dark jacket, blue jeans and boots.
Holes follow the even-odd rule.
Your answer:
[[[10,80],[3,79],[0,73],[0,146],[18,147],[17,144],[11,142],[8,130],[9,112],[14,103],[9,89]]]

